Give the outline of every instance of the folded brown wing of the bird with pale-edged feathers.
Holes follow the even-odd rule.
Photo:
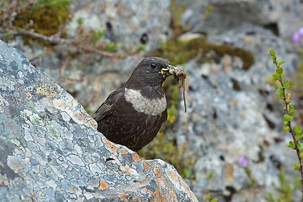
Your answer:
[[[123,87],[117,89],[113,93],[109,95],[109,97],[106,99],[104,103],[102,103],[101,106],[94,112],[92,115],[92,118],[96,120],[96,122],[99,122],[99,120],[102,120],[106,116],[110,115],[115,111],[115,103],[118,101],[118,99],[123,96]]]

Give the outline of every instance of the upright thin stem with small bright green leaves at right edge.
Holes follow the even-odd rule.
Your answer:
[[[294,170],[298,170],[301,174],[301,185],[303,190],[303,144],[300,143],[300,140],[303,138],[302,127],[295,126],[292,128],[291,120],[294,118],[293,113],[296,111],[294,106],[290,106],[290,93],[286,91],[286,89],[290,88],[289,81],[283,81],[284,70],[282,65],[285,61],[279,62],[277,60],[276,53],[274,49],[270,50],[270,55],[272,57],[274,65],[277,67],[276,73],[273,74],[273,79],[278,80],[280,83],[280,87],[276,90],[276,94],[280,99],[284,101],[286,113],[283,116],[284,127],[283,130],[285,132],[289,132],[292,136],[293,141],[289,141],[288,147],[294,149],[296,151],[298,161],[294,164]],[[303,193],[303,191],[302,191]]]

